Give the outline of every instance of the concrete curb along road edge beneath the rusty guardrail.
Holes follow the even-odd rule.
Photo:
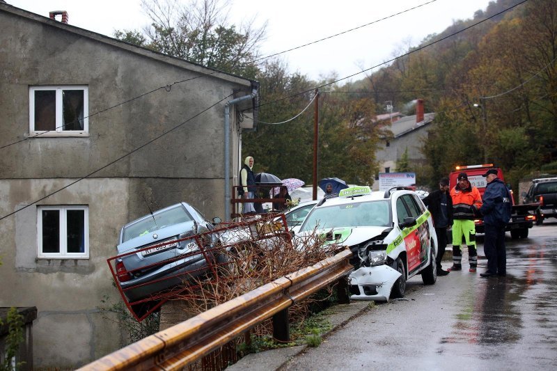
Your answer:
[[[338,304],[324,310],[322,315],[324,315],[331,324],[331,329],[322,333],[322,338],[327,338],[327,336],[336,331],[336,329],[339,329],[354,317],[368,310],[368,305],[370,303],[371,301],[352,301],[350,304]],[[272,349],[265,352],[248,354],[234,365],[226,368],[226,370],[283,370],[290,359],[304,352],[306,348],[308,348],[308,345],[297,345],[296,347]]]

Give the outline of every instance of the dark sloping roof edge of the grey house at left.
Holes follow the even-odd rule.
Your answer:
[[[98,42],[102,42],[107,45],[111,45],[112,47],[119,47],[121,49],[125,49],[128,52],[132,52],[135,54],[141,54],[148,58],[153,58],[163,63],[168,63],[171,65],[175,65],[179,68],[184,68],[190,71],[198,72],[201,74],[211,75],[212,77],[223,79],[226,81],[234,82],[235,84],[241,84],[246,86],[246,88],[251,88],[251,86],[258,85],[256,81],[252,81],[250,79],[245,79],[244,77],[236,76],[235,74],[230,74],[228,72],[223,72],[219,70],[215,70],[214,68],[208,68],[203,65],[199,65],[194,62],[185,61],[184,59],[176,58],[173,56],[168,56],[166,54],[162,54],[159,52],[154,52],[150,49],[146,49],[144,47],[139,47],[134,44],[130,44],[129,42],[124,42],[115,38],[111,38],[106,35],[102,35],[100,33],[96,33],[93,31],[88,31],[86,29],[81,29],[77,26],[72,26],[71,24],[65,24],[62,22],[58,22],[54,19],[50,19],[49,17],[43,17],[42,15],[38,15],[36,13],[31,13],[26,10],[17,8],[12,6],[8,3],[4,3],[0,1],[0,11],[10,13],[12,15],[17,15],[19,17],[24,17],[26,19],[33,20],[35,22],[40,22],[47,26],[52,26],[56,29],[61,29],[66,32],[76,33],[82,37],[90,38],[92,40],[96,40]]]

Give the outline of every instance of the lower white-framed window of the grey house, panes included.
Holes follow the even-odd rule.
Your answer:
[[[37,210],[38,258],[89,258],[87,206],[40,206]]]

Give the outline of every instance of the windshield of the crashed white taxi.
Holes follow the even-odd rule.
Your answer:
[[[309,214],[301,231],[313,228],[369,227],[391,225],[391,213],[387,200],[364,203],[344,203],[328,207],[317,207]]]

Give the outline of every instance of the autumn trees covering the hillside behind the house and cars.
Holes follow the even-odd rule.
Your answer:
[[[492,1],[350,82],[335,74],[313,81],[289,72],[280,56],[261,58],[265,26],[230,24],[226,1],[174,13],[171,2],[143,0],[151,26],[115,36],[259,81],[258,122],[242,134],[242,158],[255,157],[256,172],[311,183],[317,90],[318,179],[371,185],[382,171],[375,151],[392,136],[390,121],[375,117],[389,113],[386,102],[413,115],[409,103],[418,98],[435,113],[427,138],[416,143],[425,161],[402,156],[391,171],[414,171],[420,185],[433,188],[457,164],[496,164],[513,188],[524,177],[557,172],[554,0]]]

